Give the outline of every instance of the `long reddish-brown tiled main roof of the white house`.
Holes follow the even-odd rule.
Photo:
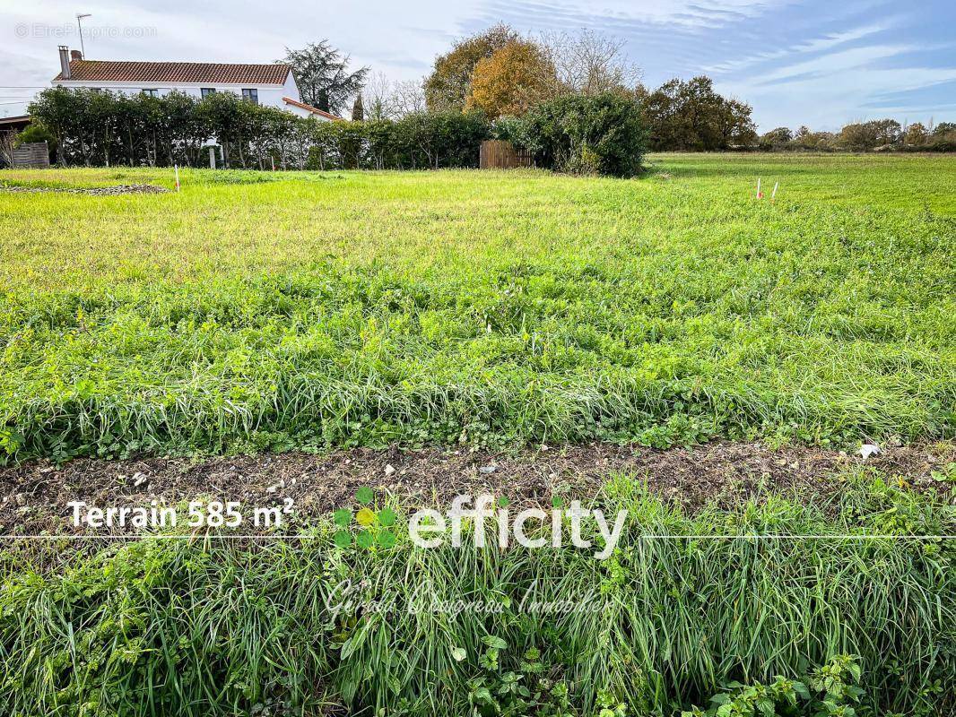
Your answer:
[[[282,85],[288,76],[289,65],[71,60],[70,79],[66,81]],[[54,82],[62,79],[63,74],[60,73],[54,77]]]

